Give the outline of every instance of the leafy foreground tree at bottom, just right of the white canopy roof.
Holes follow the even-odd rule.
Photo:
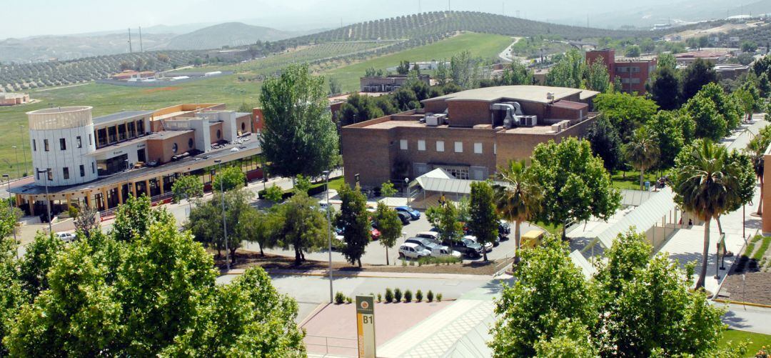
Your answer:
[[[563,319],[586,327],[594,326],[598,316],[581,269],[570,264],[567,244],[547,236],[523,258],[527,265],[517,269],[516,281],[495,302],[498,320],[488,343],[495,357],[534,356],[539,341],[564,334]]]

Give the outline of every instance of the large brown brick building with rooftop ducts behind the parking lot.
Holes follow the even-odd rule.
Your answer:
[[[375,187],[436,168],[485,180],[537,144],[582,137],[597,113],[597,92],[546,86],[499,86],[423,100],[423,109],[355,123],[341,130],[345,181]]]

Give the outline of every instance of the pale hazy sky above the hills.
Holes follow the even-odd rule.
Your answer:
[[[664,0],[649,0],[662,2]],[[12,0],[0,0],[12,2]],[[520,11],[527,19],[576,17],[585,22],[592,9],[618,4],[614,0],[449,0],[453,10],[507,15]],[[279,29],[331,27],[342,22],[383,19],[396,15],[446,10],[447,0],[21,0],[2,6],[0,39],[30,35],[98,32],[137,26],[180,25],[191,22],[258,20]],[[505,4],[505,5],[504,5]]]

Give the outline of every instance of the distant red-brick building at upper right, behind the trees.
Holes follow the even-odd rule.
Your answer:
[[[598,49],[586,52],[586,62],[592,64],[602,60],[611,75],[611,80],[618,77],[621,80],[621,91],[645,95],[645,84],[651,80],[656,69],[655,57],[635,59],[616,58],[613,49]]]

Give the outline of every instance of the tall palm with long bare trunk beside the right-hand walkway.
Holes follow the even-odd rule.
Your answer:
[[[678,158],[675,175],[675,201],[685,211],[704,221],[702,270],[696,288],[704,288],[709,254],[709,223],[726,211],[737,191],[736,169],[729,163],[728,150],[709,140],[692,144],[687,155]]]

